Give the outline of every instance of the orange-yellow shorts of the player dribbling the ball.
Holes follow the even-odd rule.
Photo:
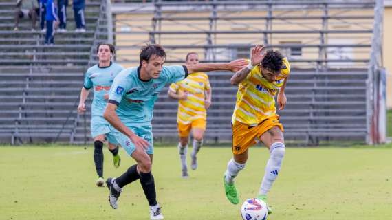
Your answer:
[[[257,143],[257,138],[259,139],[265,131],[272,129],[274,126],[279,127],[283,132],[283,125],[279,122],[279,115],[265,118],[256,126],[236,122],[235,125],[232,125],[232,153],[238,155],[245,152],[250,146]]]

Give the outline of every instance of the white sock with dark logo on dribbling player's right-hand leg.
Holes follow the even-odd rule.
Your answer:
[[[259,195],[267,195],[276,177],[278,177],[279,170],[281,170],[282,160],[285,156],[285,144],[275,142],[270,147],[270,159],[268,159],[265,166],[265,173],[263,181],[261,182]]]

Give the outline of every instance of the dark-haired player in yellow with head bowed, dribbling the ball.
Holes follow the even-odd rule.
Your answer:
[[[248,160],[250,146],[261,141],[270,150],[270,159],[257,197],[267,203],[270,190],[281,170],[285,155],[283,126],[276,114],[274,96],[278,94],[279,110],[286,104],[284,94],[290,65],[287,58],[274,50],[264,52],[263,46],[252,48],[250,62],[231,78],[232,85],[238,85],[237,102],[232,115],[232,153],[224,174],[226,197],[239,203],[234,179]],[[272,210],[268,206],[268,213]]]

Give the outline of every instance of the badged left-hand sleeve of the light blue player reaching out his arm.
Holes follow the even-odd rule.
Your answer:
[[[128,80],[125,78],[127,74],[124,71],[126,71],[126,69],[114,78],[109,92],[109,103],[116,104],[117,106],[131,87]]]

